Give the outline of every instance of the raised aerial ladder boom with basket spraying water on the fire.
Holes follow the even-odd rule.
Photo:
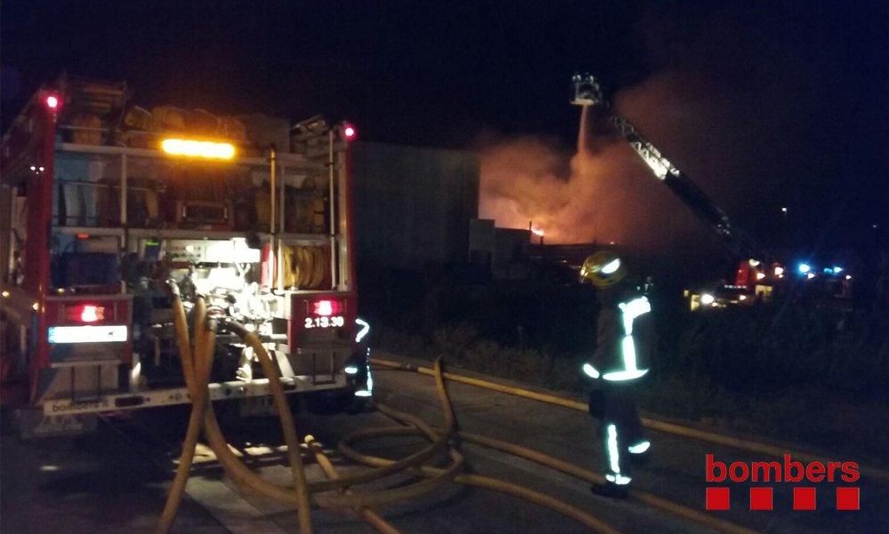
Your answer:
[[[712,227],[717,235],[737,257],[751,258],[757,256],[757,247],[734,227],[725,211],[722,211],[709,196],[698,187],[685,172],[680,171],[661,151],[654,147],[648,139],[622,116],[617,115],[608,105],[596,78],[590,75],[575,74],[572,77],[573,99],[576,106],[599,106],[605,110],[605,117],[610,124],[627,139],[629,146],[636,151],[642,161],[653,171],[654,176],[669,187],[694,214]]]

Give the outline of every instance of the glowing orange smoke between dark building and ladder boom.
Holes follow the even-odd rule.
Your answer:
[[[534,137],[483,147],[479,217],[498,227],[531,222],[547,243],[616,243],[646,256],[718,246],[626,141],[588,112],[573,151]]]

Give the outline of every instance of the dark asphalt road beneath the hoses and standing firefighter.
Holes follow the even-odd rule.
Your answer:
[[[377,371],[375,395],[397,410],[412,412],[441,424],[432,379],[404,371]],[[477,387],[450,384],[461,429],[516,442],[579,466],[601,465],[599,440],[588,415]],[[0,530],[3,532],[149,532],[153,530],[172,480],[176,444],[184,434],[186,410],[155,411],[132,420],[100,425],[96,434],[20,442],[8,432],[0,438]],[[314,434],[335,449],[340,437],[368,426],[389,426],[380,413],[356,416],[300,414],[300,434]],[[276,420],[255,418],[226,427],[229,441],[250,456],[253,468],[278,483],[290,480]],[[652,458],[635,472],[637,488],[703,511],[704,455],[725,461],[757,461],[740,450],[689,441],[669,434],[652,434]],[[416,439],[387,438],[364,442],[359,448],[388,458],[400,458],[421,446]],[[589,484],[524,459],[473,444],[463,445],[472,473],[518,482],[596,515],[622,532],[710,532],[693,522],[665,514],[642,503],[614,501],[589,492]],[[346,474],[350,466],[334,450],[331,456]],[[844,458],[854,459],[854,458]],[[323,479],[320,468],[308,464],[312,479]],[[406,482],[404,477],[374,482],[361,490]],[[749,511],[748,486],[732,487],[732,509],[712,513],[722,519],[764,532],[887,532],[889,488],[862,479],[861,511],[839,512],[833,506],[833,484],[818,486],[818,509],[793,511],[789,484],[775,484],[774,510]],[[468,488],[445,486],[422,498],[382,506],[383,514],[405,533],[588,532],[583,525],[517,498]],[[373,532],[349,514],[313,513],[317,532]],[[175,532],[294,532],[296,514],[288,506],[239,491],[213,461],[199,450]]]

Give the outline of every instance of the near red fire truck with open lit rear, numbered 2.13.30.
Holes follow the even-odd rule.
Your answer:
[[[141,108],[124,83],[36,92],[0,148],[0,400],[22,434],[189,402],[167,281],[257,332],[310,408],[369,397],[355,135],[320,116]],[[252,414],[268,395],[251,350],[220,331],[211,399]]]

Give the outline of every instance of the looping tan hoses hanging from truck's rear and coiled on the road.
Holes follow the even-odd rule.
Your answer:
[[[459,450],[456,450],[453,446],[449,445],[457,436],[458,431],[453,406],[445,387],[444,372],[440,360],[436,361],[434,369],[436,394],[445,416],[445,429],[443,431],[429,426],[420,418],[415,418],[410,414],[391,410],[384,405],[378,404],[378,408],[380,408],[380,411],[384,414],[387,414],[389,417],[408,426],[384,426],[353,432],[344,436],[339,445],[340,452],[344,456],[363,463],[366,466],[371,466],[372,468],[361,474],[339,477],[336,475],[331,476],[331,471],[325,469],[324,463],[322,463],[322,468],[328,472],[329,480],[307,482],[300,458],[300,444],[297,439],[296,428],[293,424],[292,412],[287,403],[284,388],[281,386],[281,382],[278,379],[279,371],[276,368],[276,364],[268,356],[268,352],[265,347],[263,347],[260,338],[254,332],[248,331],[244,325],[240,323],[226,319],[220,319],[219,321],[212,319],[208,320],[204,300],[198,298],[194,307],[193,322],[195,331],[194,344],[192,344],[188,333],[188,320],[186,318],[185,307],[182,305],[178,287],[172,281],[168,283],[168,286],[172,294],[173,323],[177,334],[177,347],[180,352],[182,372],[185,376],[186,386],[188,387],[188,395],[192,402],[192,409],[188,417],[188,429],[182,446],[180,463],[177,467],[170,493],[164,505],[164,511],[161,514],[161,518],[157,525],[156,531],[158,533],[167,532],[175,519],[176,512],[180,506],[181,498],[185,490],[186,482],[188,482],[188,473],[194,459],[196,443],[202,428],[204,430],[204,436],[216,455],[220,465],[223,467],[228,477],[236,482],[239,487],[248,488],[260,495],[282,500],[296,506],[300,523],[300,534],[310,534],[312,532],[310,517],[310,509],[312,505],[325,508],[353,508],[358,510],[366,519],[367,514],[364,511],[366,506],[386,504],[397,500],[417,497],[420,494],[434,490],[452,480],[455,482],[498,490],[520,498],[525,498],[536,504],[547,506],[561,514],[572,517],[597,532],[602,532],[604,534],[617,533],[616,530],[613,530],[596,517],[537,491],[529,490],[525,487],[493,479],[491,477],[475,474],[460,474],[465,460]],[[235,332],[247,346],[252,347],[254,354],[258,357],[263,371],[268,378],[269,390],[273,397],[278,417],[281,420],[284,442],[287,445],[287,456],[293,477],[292,487],[279,486],[272,482],[268,482],[262,479],[259,474],[254,473],[249,467],[244,465],[244,462],[238,458],[232,450],[229,449],[228,442],[221,432],[219,422],[216,419],[212,407],[212,402],[210,402],[208,395],[212,355],[215,350],[215,330],[219,323],[224,323],[227,330]],[[360,440],[398,435],[420,435],[426,437],[430,443],[425,449],[398,460],[365,455],[351,447],[351,443]],[[313,442],[314,440],[307,439],[309,449],[312,450],[315,453],[316,458],[318,458],[318,451],[316,450],[317,444],[313,446]],[[428,459],[436,454],[440,455],[440,453],[446,453],[446,456],[450,459],[449,465],[444,468],[434,468],[423,465]],[[332,468],[332,466],[330,467]],[[387,490],[374,490],[369,492],[346,491],[346,489],[351,486],[372,482],[382,477],[400,472],[416,474],[422,477],[422,479],[420,482],[413,482],[409,485]],[[372,526],[386,534],[397,532],[397,530],[388,525],[388,523],[381,522],[381,518],[379,522],[374,521],[373,519],[368,521]],[[382,523],[385,523],[385,526]],[[386,530],[387,527],[391,530]]]

